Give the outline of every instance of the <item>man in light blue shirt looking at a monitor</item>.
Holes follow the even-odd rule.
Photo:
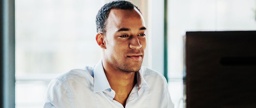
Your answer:
[[[44,107],[173,108],[164,76],[141,66],[147,42],[140,10],[128,1],[110,2],[96,25],[102,59],[54,78]]]

